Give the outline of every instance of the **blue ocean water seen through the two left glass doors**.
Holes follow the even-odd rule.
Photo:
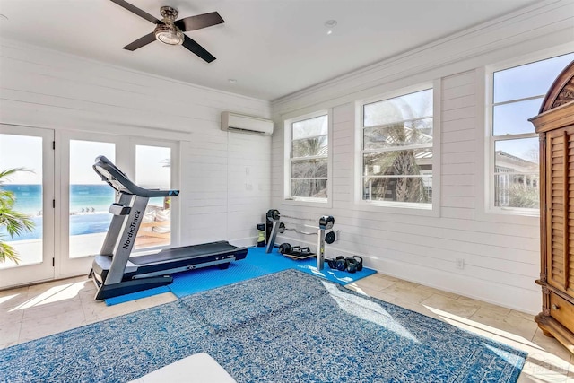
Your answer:
[[[40,239],[43,231],[41,185],[4,185],[4,190],[16,196],[15,209],[30,215],[35,229],[10,239],[4,228],[0,235],[10,240]],[[112,214],[109,205],[114,202],[114,189],[107,184],[70,186],[70,235],[108,231]]]

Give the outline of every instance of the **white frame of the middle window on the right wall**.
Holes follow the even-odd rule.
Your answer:
[[[403,203],[393,201],[369,201],[362,198],[362,140],[364,105],[393,99],[417,91],[432,90],[432,202],[431,204]],[[411,215],[439,216],[440,200],[440,80],[419,83],[400,90],[387,92],[377,97],[359,100],[355,103],[355,156],[354,156],[354,209],[381,213],[401,213]]]

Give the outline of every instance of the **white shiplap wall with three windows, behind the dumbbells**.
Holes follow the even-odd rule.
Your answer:
[[[448,292],[537,313],[539,222],[534,216],[488,213],[484,208],[486,65],[532,60],[574,50],[574,3],[543,2],[526,11],[465,30],[400,57],[300,91],[273,103],[276,131],[272,202],[288,228],[335,217],[339,240],[326,257],[360,255],[380,273]],[[365,209],[355,203],[357,101],[433,82],[439,94],[439,162],[435,162],[435,212]],[[331,110],[329,204],[283,200],[283,122]],[[356,190],[355,190],[356,189]],[[294,219],[297,217],[299,219]],[[285,231],[277,241],[307,244],[316,238]],[[464,259],[464,269],[457,268]]]

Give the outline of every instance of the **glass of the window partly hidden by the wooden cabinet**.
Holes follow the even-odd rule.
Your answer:
[[[538,135],[528,118],[574,54],[503,69],[492,74],[491,207],[519,213],[539,208]]]

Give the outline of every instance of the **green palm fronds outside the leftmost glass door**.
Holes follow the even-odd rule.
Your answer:
[[[7,178],[17,171],[23,171],[22,168],[14,168],[0,171],[0,228],[5,227],[10,237],[18,236],[22,231],[32,231],[34,222],[24,213],[17,212],[13,209],[16,203],[16,196],[13,192],[4,190],[3,185]],[[0,234],[0,262],[4,263],[6,259],[12,260],[16,265],[20,261],[18,252],[8,243],[3,241]]]

